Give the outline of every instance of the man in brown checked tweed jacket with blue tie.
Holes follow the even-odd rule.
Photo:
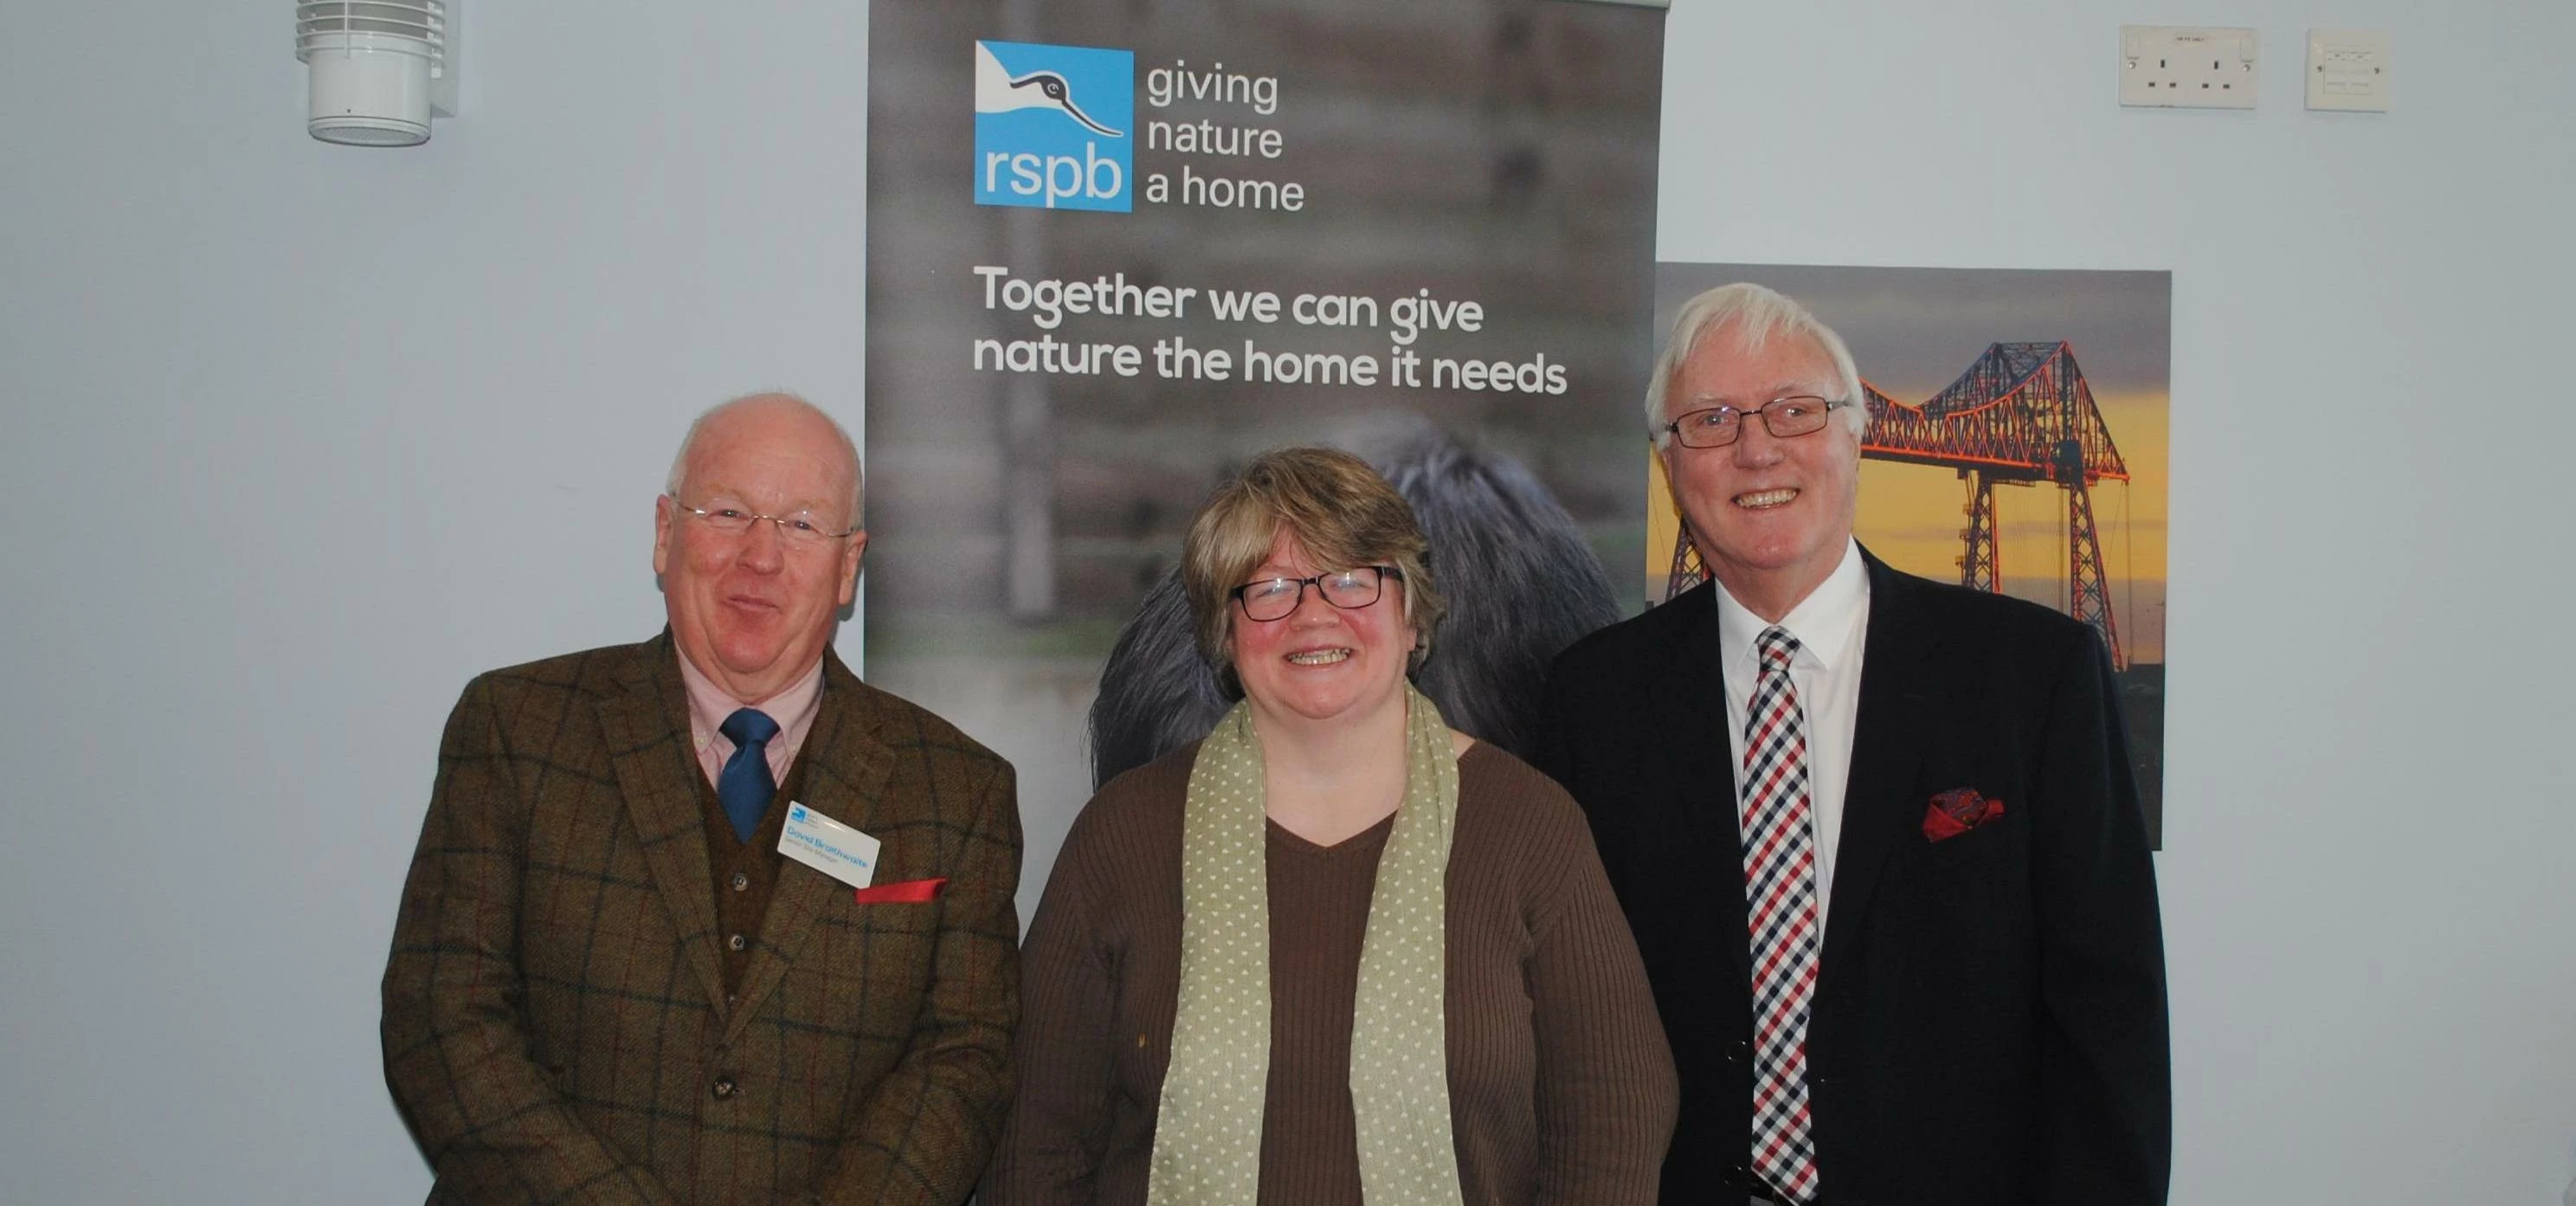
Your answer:
[[[1010,763],[832,655],[858,490],[819,410],[726,402],[654,503],[670,629],[466,685],[384,969],[433,1203],[974,1188],[1020,819]]]

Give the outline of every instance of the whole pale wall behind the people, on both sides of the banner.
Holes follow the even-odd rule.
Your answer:
[[[855,417],[863,8],[469,21],[466,113],[353,152],[283,3],[0,15],[0,1201],[417,1198],[376,974],[440,716],[652,631],[696,407]],[[2115,108],[2123,21],[2259,28],[2262,108]],[[2311,23],[2393,31],[2396,113],[2300,111]],[[1669,31],[1667,260],[2174,271],[2174,1201],[2555,1203],[2576,10]]]

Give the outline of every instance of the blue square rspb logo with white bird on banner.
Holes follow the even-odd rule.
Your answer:
[[[974,44],[974,201],[1136,209],[1136,54]]]

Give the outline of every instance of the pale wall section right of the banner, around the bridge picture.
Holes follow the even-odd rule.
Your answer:
[[[2115,108],[2117,26],[2262,34]],[[2308,26],[2396,111],[2306,113]],[[1674,5],[1667,260],[2174,271],[2177,1203],[2555,1203],[2576,1157],[2563,0]]]

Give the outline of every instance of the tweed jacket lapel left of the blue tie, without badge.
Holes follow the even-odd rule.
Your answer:
[[[636,647],[621,675],[626,691],[598,704],[618,794],[644,843],[644,863],[670,910],[680,948],[708,1005],[724,1013],[716,956],[716,884],[706,871],[706,822],[698,817],[698,760],[688,742],[688,688],[670,639]]]

